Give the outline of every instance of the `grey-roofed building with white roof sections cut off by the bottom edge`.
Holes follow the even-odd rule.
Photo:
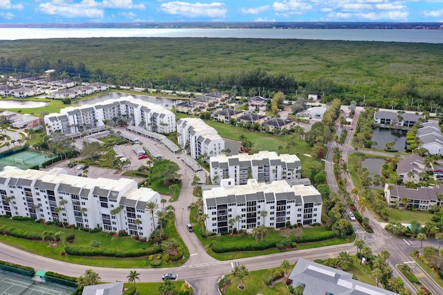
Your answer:
[[[303,294],[398,295],[379,287],[354,280],[352,274],[300,258],[289,274],[292,287],[304,285]]]

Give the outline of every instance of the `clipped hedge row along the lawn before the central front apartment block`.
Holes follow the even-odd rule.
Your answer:
[[[316,234],[315,236],[291,236],[286,238],[288,242],[318,242],[320,240],[329,240],[334,238],[334,231],[324,231],[323,233]],[[234,251],[260,251],[273,248],[277,246],[278,240],[265,240],[263,242],[250,242],[250,243],[237,243],[237,244],[223,244],[221,242],[214,242],[211,249],[215,253],[226,253]]]

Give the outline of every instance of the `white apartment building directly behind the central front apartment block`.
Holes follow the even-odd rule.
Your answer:
[[[210,158],[209,166],[213,184],[232,178],[238,185],[246,184],[251,178],[258,182],[301,178],[302,162],[296,155],[259,151],[253,155],[216,155]]]

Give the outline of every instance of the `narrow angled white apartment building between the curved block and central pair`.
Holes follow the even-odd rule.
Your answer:
[[[210,157],[224,153],[224,139],[199,118],[180,119],[177,133],[179,145],[194,159],[201,155]]]

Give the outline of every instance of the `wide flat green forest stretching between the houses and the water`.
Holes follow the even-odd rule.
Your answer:
[[[431,111],[443,105],[443,46],[374,41],[87,38],[0,41],[0,73],[176,91],[224,91]]]

